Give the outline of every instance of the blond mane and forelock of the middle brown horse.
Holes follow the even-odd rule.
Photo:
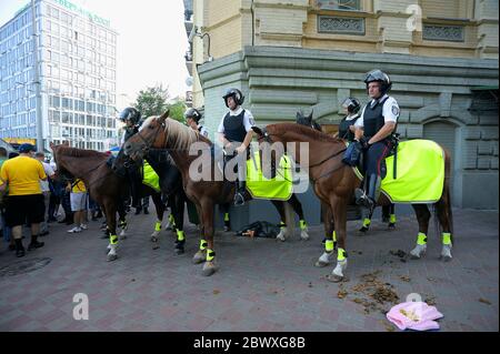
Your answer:
[[[144,127],[148,127],[153,120],[158,120],[158,115],[148,117],[142,123],[141,130]],[[198,131],[194,131],[188,125],[171,118],[164,120],[164,132],[167,132],[168,144],[172,149],[189,150],[189,146],[197,141],[202,141],[212,145],[212,142],[203,135],[200,135]]]

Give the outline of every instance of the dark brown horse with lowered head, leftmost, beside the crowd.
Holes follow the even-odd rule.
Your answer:
[[[50,143],[60,175],[70,175],[81,179],[90,196],[103,209],[109,234],[108,261],[118,257],[117,212],[120,216],[120,226],[127,227],[126,211],[122,202],[128,195],[129,186],[123,178],[117,175],[107,164],[109,155],[93,150],[70,148],[66,144]],[[160,193],[147,185],[141,186],[141,195],[151,195],[157,215],[163,215],[164,206]],[[122,234],[124,235],[124,234]]]

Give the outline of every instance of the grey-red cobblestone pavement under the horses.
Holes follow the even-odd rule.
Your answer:
[[[418,232],[413,218],[400,218],[396,231],[374,220],[367,235],[357,231],[359,222],[349,222],[348,281],[340,284],[326,280],[333,265],[313,266],[322,252],[321,226],[310,227],[307,242],[298,233],[278,242],[218,232],[220,270],[204,277],[201,265],[191,263],[199,244],[193,225],[186,227],[186,254],[176,255],[166,231],[160,249],[152,250],[153,215],[130,215],[119,259],[106,262],[100,222],[80,234],[51,224],[42,237],[46,246],[22,259],[2,244],[0,330],[386,332],[397,328],[383,314],[393,303],[383,301],[398,303],[418,293],[443,313],[441,331],[498,331],[498,212],[453,213],[449,263],[438,260],[440,237],[433,229],[426,259],[407,260]],[[388,290],[378,297],[381,303],[370,296],[373,284]],[[88,295],[89,320],[73,320],[77,293]]]

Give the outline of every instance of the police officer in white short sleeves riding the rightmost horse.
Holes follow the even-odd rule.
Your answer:
[[[364,191],[356,190],[357,203],[373,210],[380,194],[381,179],[386,176],[384,159],[392,150],[391,135],[399,118],[398,102],[388,95],[392,82],[381,70],[366,74],[368,95],[371,101],[363,108],[354,123],[354,139],[360,141],[366,153]]]

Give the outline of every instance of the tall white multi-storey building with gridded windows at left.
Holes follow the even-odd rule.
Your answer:
[[[0,28],[0,138],[37,138],[40,102],[46,149],[108,150],[116,129],[117,32],[67,0],[36,2],[41,100],[36,99],[31,7]]]

